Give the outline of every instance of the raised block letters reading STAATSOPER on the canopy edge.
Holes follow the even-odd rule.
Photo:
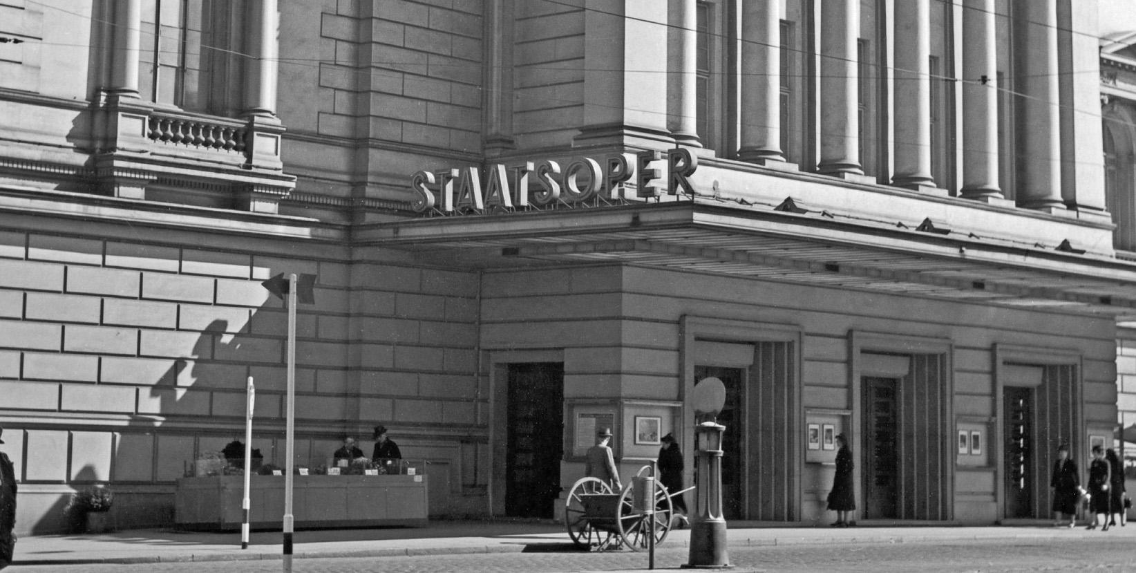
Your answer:
[[[580,204],[594,199],[618,200],[625,197],[626,183],[634,180],[635,196],[658,197],[651,182],[661,177],[652,161],[667,161],[667,193],[693,197],[690,177],[698,168],[698,157],[677,148],[638,153],[615,153],[601,159],[579,157],[565,167],[544,159],[523,165],[492,164],[438,172],[420,171],[410,177],[415,191],[411,206],[418,213],[483,213],[492,208],[544,207]]]

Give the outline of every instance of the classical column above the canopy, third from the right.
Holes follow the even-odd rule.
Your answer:
[[[930,173],[929,0],[895,2],[895,175],[897,186],[935,186]]]

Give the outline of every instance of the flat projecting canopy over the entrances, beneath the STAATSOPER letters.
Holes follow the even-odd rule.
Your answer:
[[[457,268],[620,263],[1136,318],[1136,264],[702,202],[414,219],[357,238]]]

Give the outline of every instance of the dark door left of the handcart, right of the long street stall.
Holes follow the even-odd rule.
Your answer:
[[[562,363],[509,365],[504,512],[552,517],[563,455]]]

